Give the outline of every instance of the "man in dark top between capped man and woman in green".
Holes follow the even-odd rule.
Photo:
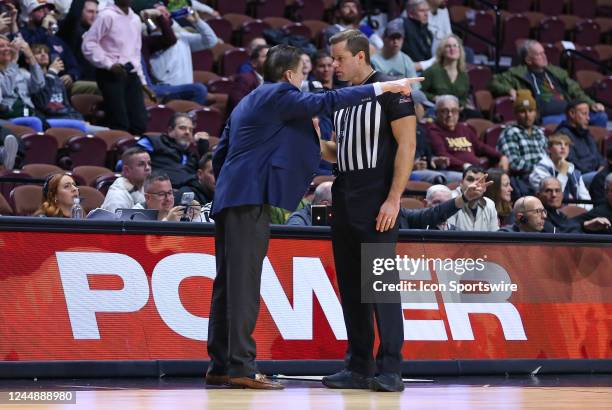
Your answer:
[[[402,51],[415,62],[417,71],[425,71],[435,62],[432,57],[433,35],[427,28],[429,4],[427,0],[409,0],[406,12],[408,16],[399,20],[404,27]]]

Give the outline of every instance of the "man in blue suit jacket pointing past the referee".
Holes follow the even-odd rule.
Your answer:
[[[208,325],[210,385],[283,388],[259,374],[251,334],[270,238],[269,207],[294,210],[321,160],[312,118],[331,116],[334,110],[385,92],[409,94],[410,83],[416,81],[302,93],[300,55],[299,49],[287,45],[269,50],[265,83],[236,106],[213,156],[217,276]]]

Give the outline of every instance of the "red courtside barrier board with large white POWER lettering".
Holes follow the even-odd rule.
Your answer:
[[[346,330],[329,229],[272,231],[261,370],[332,372]],[[0,377],[203,373],[211,225],[2,217],[0,245]],[[434,289],[404,299],[405,373],[612,372],[611,246],[605,235],[403,231],[398,255],[422,262],[411,281]],[[466,269],[459,283],[514,291],[458,298],[449,284]]]

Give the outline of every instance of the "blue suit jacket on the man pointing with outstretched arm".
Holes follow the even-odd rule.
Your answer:
[[[317,94],[285,82],[259,86],[236,106],[215,150],[211,213],[263,204],[294,210],[321,160],[312,117],[374,98],[372,85]]]

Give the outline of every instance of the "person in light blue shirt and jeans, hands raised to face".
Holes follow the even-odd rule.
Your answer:
[[[170,13],[162,5],[155,8],[161,17],[170,21]],[[208,95],[208,90],[203,84],[193,82],[193,62],[191,53],[214,47],[219,39],[210,26],[200,19],[198,13],[187,14],[184,20],[188,27],[196,32],[193,33],[181,27],[176,21],[172,23],[172,29],[176,36],[176,43],[165,50],[152,54],[151,74],[163,86],[182,87],[183,90],[170,89],[162,92],[167,99],[184,98],[183,93],[190,96],[193,101],[204,104],[207,100],[217,101],[217,95]]]

